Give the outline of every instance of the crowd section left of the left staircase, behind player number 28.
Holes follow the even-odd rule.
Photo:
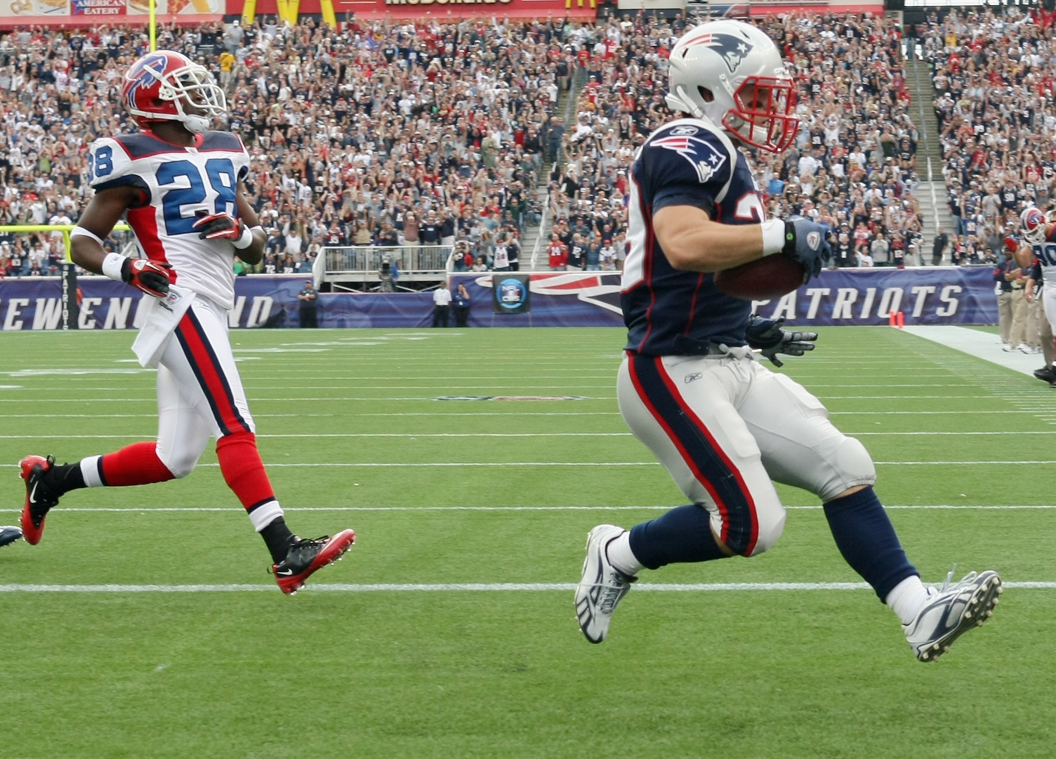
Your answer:
[[[252,157],[250,201],[269,229],[261,270],[282,272],[310,268],[333,245],[464,238],[485,262],[496,245],[515,247],[540,215],[532,190],[576,49],[562,46],[566,36],[551,22],[364,22],[337,33],[264,20],[162,30],[158,46],[220,74],[229,128]],[[146,50],[142,29],[0,39],[0,222],[77,220],[88,145],[132,129],[121,75]],[[57,242],[8,238],[4,270],[54,272]]]

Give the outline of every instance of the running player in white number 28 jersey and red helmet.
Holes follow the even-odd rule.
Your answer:
[[[296,593],[348,550],[355,533],[294,535],[257,451],[227,333],[234,257],[253,264],[264,252],[265,234],[243,184],[249,155],[234,134],[209,130],[226,114],[224,92],[180,53],[157,51],[135,61],[125,75],[124,100],[139,132],[92,145],[95,194],[71,233],[72,255],[78,266],[146,293],[133,349],[142,364],[157,367],[157,439],[73,464],[56,464],[52,456],[22,459],[24,537],[40,542],[48,511],[71,490],[190,474],[212,436],[224,479],[271,553],[279,587]],[[122,215],[142,258],[102,248]]]

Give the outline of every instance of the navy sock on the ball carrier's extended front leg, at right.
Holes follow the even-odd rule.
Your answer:
[[[872,488],[830,500],[825,505],[825,518],[844,558],[872,586],[881,601],[906,577],[920,575],[906,558]]]

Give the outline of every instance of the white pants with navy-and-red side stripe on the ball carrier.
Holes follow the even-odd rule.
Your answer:
[[[770,548],[785,526],[771,480],[828,501],[872,485],[865,447],[829,421],[825,406],[751,348],[721,356],[627,355],[617,383],[620,412],[734,552]]]

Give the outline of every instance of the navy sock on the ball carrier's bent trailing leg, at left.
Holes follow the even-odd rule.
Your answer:
[[[680,506],[630,530],[630,551],[649,569],[666,564],[725,558],[712,534],[711,515],[702,506]]]

